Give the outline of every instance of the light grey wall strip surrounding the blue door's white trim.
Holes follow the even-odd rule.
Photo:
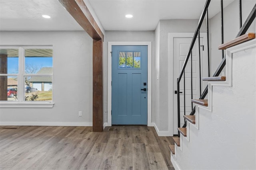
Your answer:
[[[104,46],[108,47],[109,41],[151,41],[152,42],[152,62],[155,54],[154,31],[106,31]],[[104,94],[108,91],[108,48],[104,48]],[[153,63],[152,63],[153,64]],[[152,90],[153,91],[153,90]],[[111,94],[107,94],[111,95]],[[108,103],[104,95],[104,123],[108,122]]]

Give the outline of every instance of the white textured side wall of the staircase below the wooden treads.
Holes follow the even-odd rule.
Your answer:
[[[250,53],[249,56],[246,53]],[[248,61],[248,65],[243,60]],[[208,107],[196,105],[198,126],[187,122],[189,140],[181,135],[182,149],[176,147],[175,156],[171,156],[175,169],[256,169],[255,67],[255,39],[226,50],[226,81],[208,82]],[[248,74],[249,78],[240,80]],[[239,81],[246,82],[246,86],[241,87]],[[245,104],[247,98],[252,108],[248,109],[247,104],[245,113],[238,112],[236,105],[240,100]],[[234,102],[229,103],[231,99]],[[231,111],[222,111],[225,107]]]

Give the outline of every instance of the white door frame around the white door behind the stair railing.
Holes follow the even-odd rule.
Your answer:
[[[170,136],[174,134],[174,56],[173,56],[173,39],[174,38],[191,38],[194,37],[194,33],[169,33],[169,132]],[[202,45],[206,45],[205,41],[207,40],[207,33],[200,33],[200,37],[204,38],[204,42]],[[205,53],[207,53],[207,48],[205,49]],[[208,60],[204,60],[204,62]],[[204,63],[203,63],[204,64]],[[205,71],[205,69],[204,69]],[[178,77],[176,77],[178,78]],[[204,89],[203,89],[204,90]]]

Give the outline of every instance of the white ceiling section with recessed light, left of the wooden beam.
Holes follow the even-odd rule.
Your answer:
[[[83,30],[58,0],[0,0],[0,31],[57,30]]]

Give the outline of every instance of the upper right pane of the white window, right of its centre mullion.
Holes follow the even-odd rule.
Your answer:
[[[52,49],[25,49],[26,74],[52,74]]]

